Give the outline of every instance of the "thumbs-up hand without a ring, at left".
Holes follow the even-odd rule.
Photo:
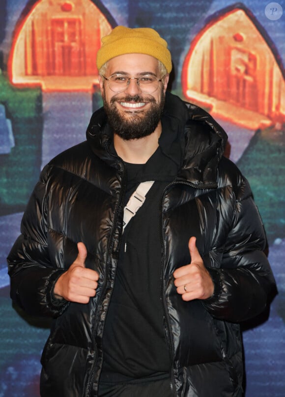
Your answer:
[[[87,250],[84,243],[77,244],[78,256],[69,269],[57,280],[54,294],[71,302],[88,303],[90,297],[96,294],[99,274],[97,271],[85,268]]]

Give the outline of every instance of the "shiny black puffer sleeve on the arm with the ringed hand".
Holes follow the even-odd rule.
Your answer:
[[[221,254],[210,252],[208,270],[214,294],[203,301],[213,317],[230,322],[242,322],[261,313],[276,291],[263,252],[266,237],[262,221],[248,181],[239,177],[237,188],[228,190],[222,204],[232,210],[224,212],[229,220],[223,247],[218,250]]]

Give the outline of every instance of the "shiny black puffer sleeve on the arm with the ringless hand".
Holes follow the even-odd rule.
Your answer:
[[[54,284],[64,272],[53,264],[48,250],[46,166],[29,199],[21,223],[21,235],[7,258],[11,298],[28,314],[57,317],[68,302],[53,297]]]

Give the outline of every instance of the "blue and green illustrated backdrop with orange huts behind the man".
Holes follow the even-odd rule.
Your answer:
[[[169,43],[169,89],[209,111],[249,179],[278,285],[243,325],[245,396],[285,396],[285,0],[0,0],[0,397],[39,396],[49,321],[9,298],[6,256],[43,165],[101,106],[96,52],[116,25]],[[220,396],[217,396],[220,397]]]

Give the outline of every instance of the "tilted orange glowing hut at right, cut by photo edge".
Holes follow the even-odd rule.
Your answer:
[[[246,8],[215,15],[185,58],[184,96],[250,128],[284,123],[284,69],[268,41]]]

